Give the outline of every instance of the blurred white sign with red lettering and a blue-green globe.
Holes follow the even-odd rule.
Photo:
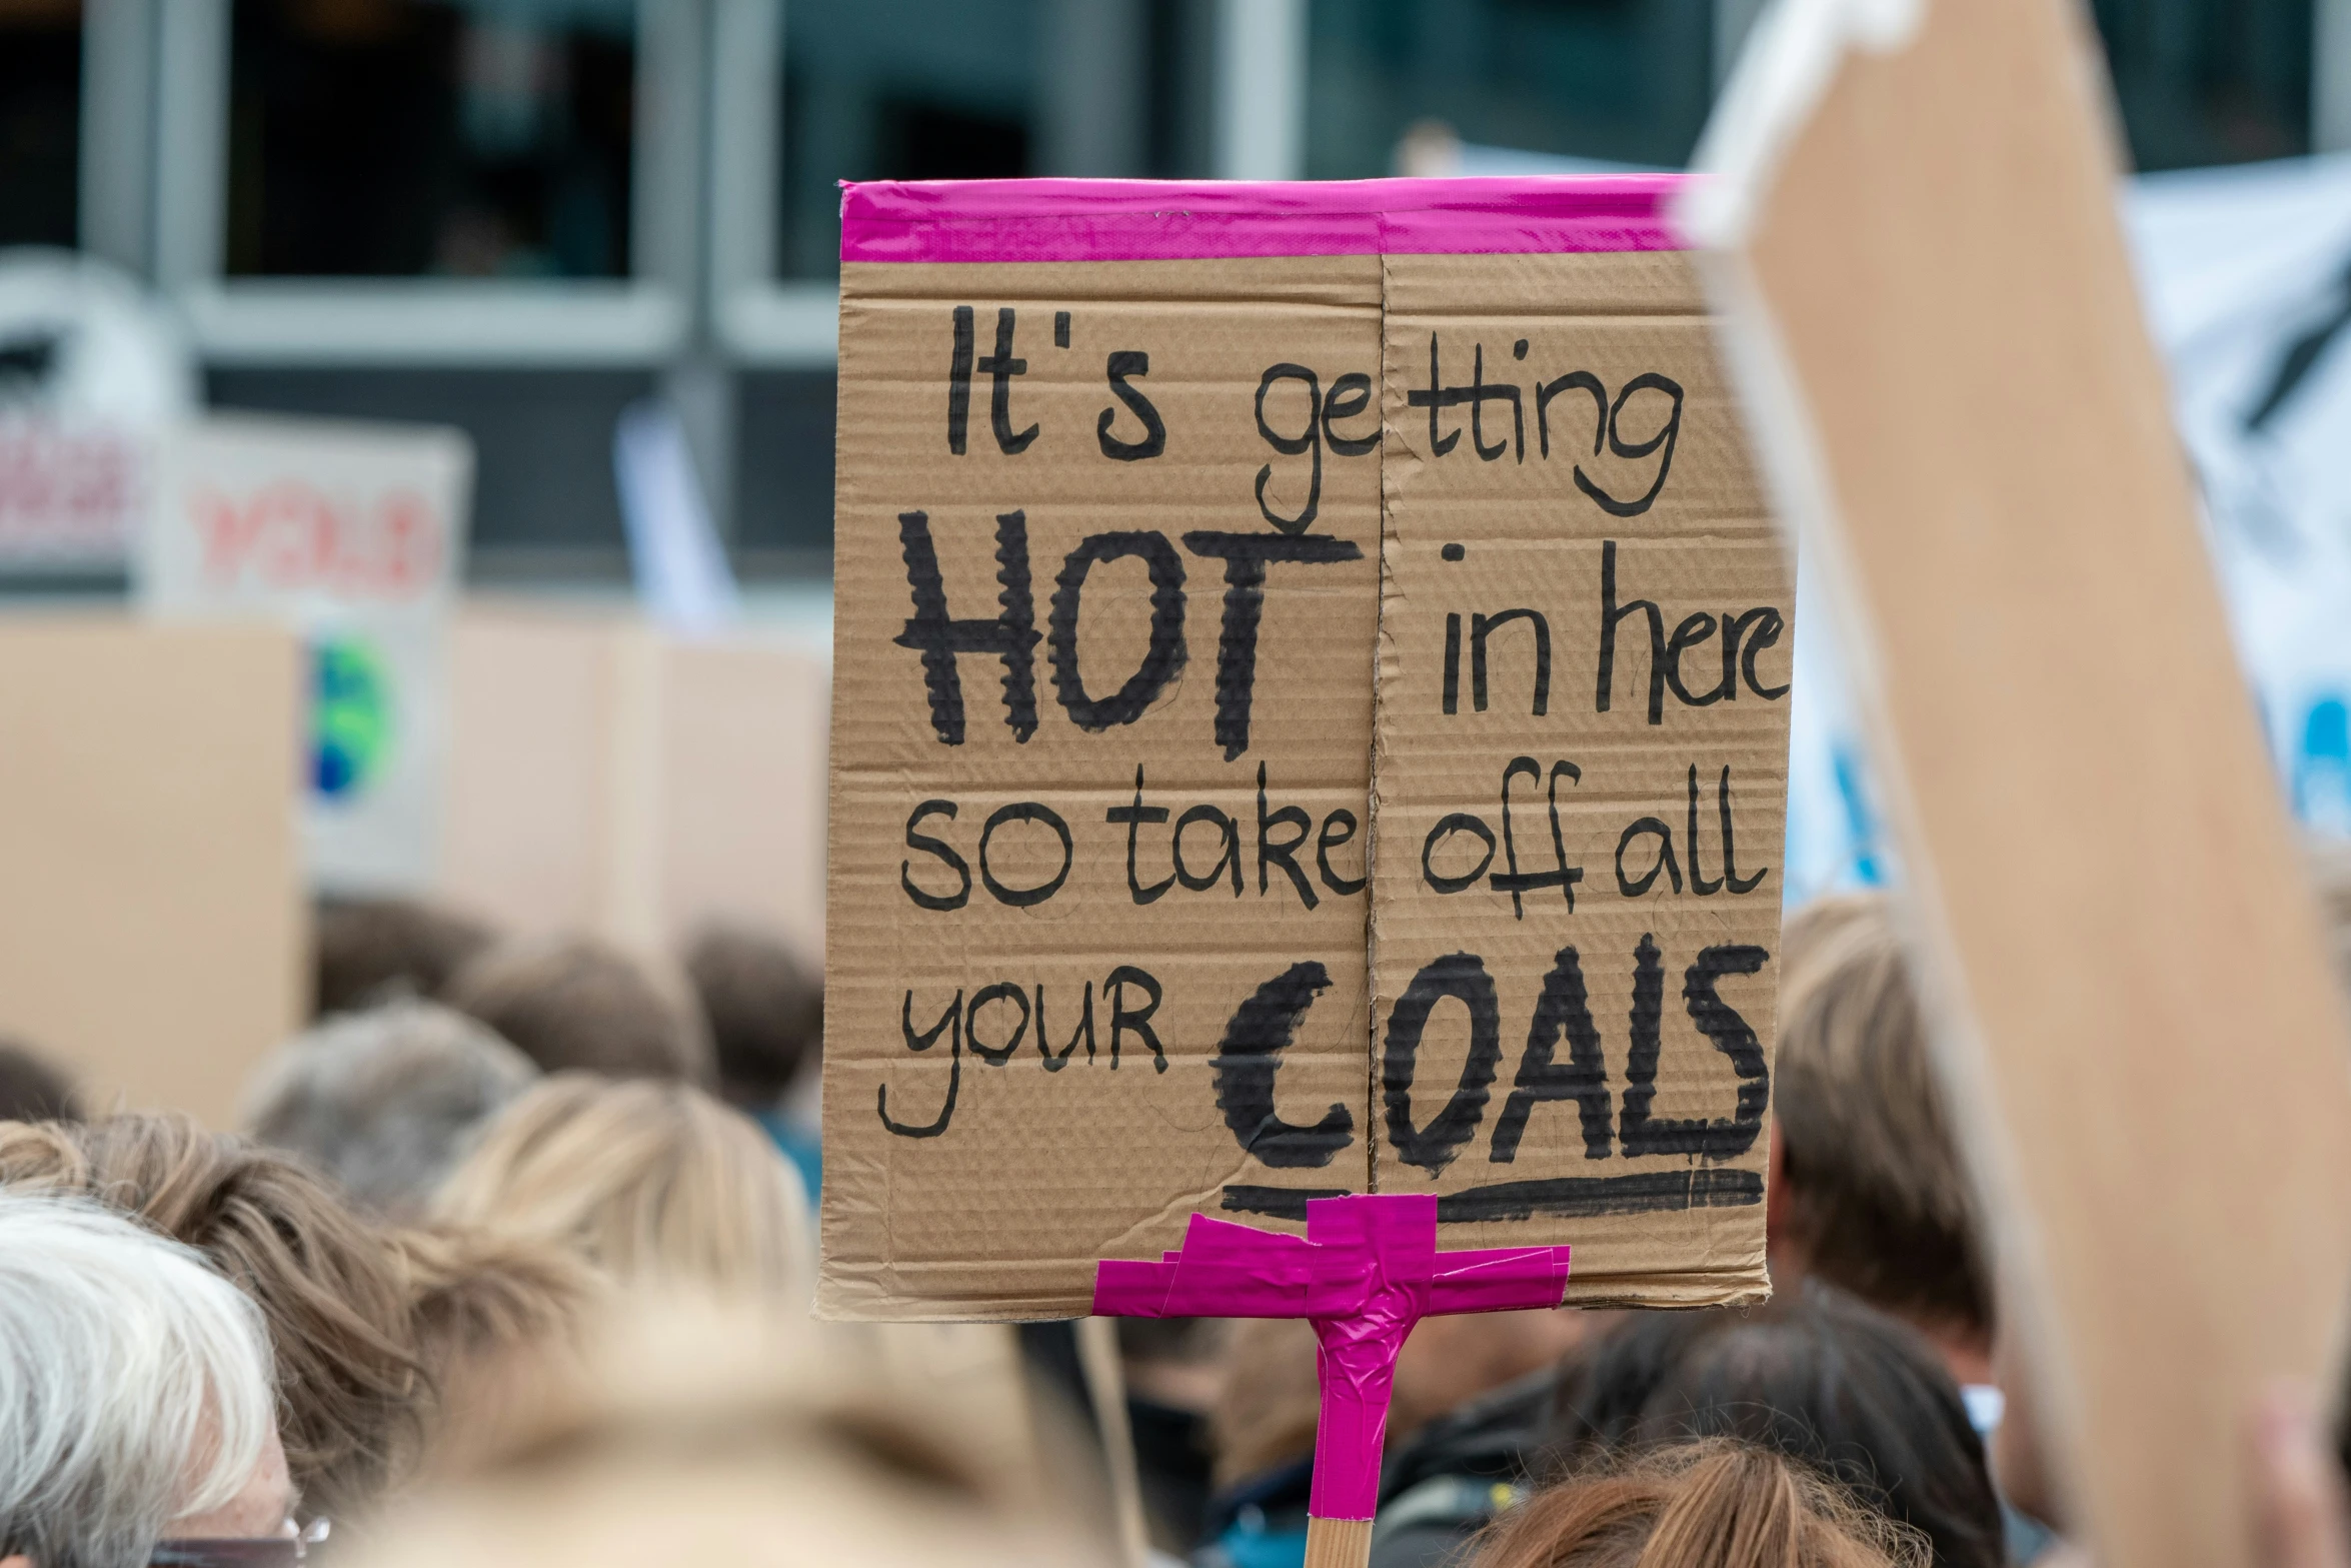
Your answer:
[[[473,447],[456,430],[207,418],[162,444],[136,557],[162,616],[275,616],[310,646],[310,875],[433,877],[447,757],[447,616]]]

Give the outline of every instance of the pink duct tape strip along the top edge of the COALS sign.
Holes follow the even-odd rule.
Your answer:
[[[1683,179],[868,181],[842,186],[842,261],[1665,252]]]

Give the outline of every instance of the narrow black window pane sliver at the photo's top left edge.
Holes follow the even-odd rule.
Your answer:
[[[80,0],[0,0],[0,244],[73,244]]]

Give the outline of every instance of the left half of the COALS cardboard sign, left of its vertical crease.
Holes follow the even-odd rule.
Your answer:
[[[978,320],[978,355],[999,308],[1016,308],[1027,360],[1011,397],[1013,433],[1039,435],[1020,454],[997,449],[990,383],[973,383],[969,447],[945,437],[952,308]],[[1070,310],[1070,348],[1053,348],[1053,315]],[[1112,461],[1098,418],[1114,350],[1150,355],[1150,395],[1166,454]],[[1089,266],[844,266],[839,503],[835,550],[832,900],[825,966],[825,1281],[835,1314],[1070,1316],[1086,1309],[1093,1262],[1150,1258],[1183,1237],[1192,1211],[1218,1213],[1227,1190],[1288,1185],[1361,1192],[1364,1140],[1364,905],[1335,893],[1298,856],[1317,907],[1270,867],[1260,886],[1258,769],[1267,811],[1295,806],[1317,835],[1331,811],[1359,820],[1371,764],[1371,658],[1378,616],[1380,465],[1375,454],[1331,456],[1321,470],[1312,536],[1354,545],[1338,564],[1274,564],[1265,576],[1248,750],[1227,759],[1215,738],[1225,564],[1192,552],[1190,531],[1274,536],[1255,508],[1253,475],[1272,456],[1255,430],[1260,374],[1277,362],[1314,367],[1321,386],[1373,376],[1380,362],[1380,266],[1328,261],[1152,261]],[[1295,409],[1281,393],[1295,393]],[[1375,400],[1366,397],[1375,407]],[[1270,418],[1305,423],[1305,388],[1277,388]],[[1119,409],[1112,435],[1143,440]],[[1378,430],[1375,414],[1357,421]],[[1357,425],[1347,425],[1354,430]],[[1270,480],[1284,515],[1302,508],[1312,456],[1284,456]],[[959,654],[966,715],[962,745],[931,724],[924,668],[893,644],[912,592],[900,512],[924,510],[947,611],[999,611],[997,517],[1025,512],[1027,578],[1046,632],[1056,581],[1081,538],[1150,531],[1183,571],[1185,665],[1133,724],[1089,733],[1056,696],[1051,649],[1034,649],[1037,729],[1020,743],[1006,724],[1004,661]],[[1093,564],[1077,616],[1077,670],[1105,698],[1145,661],[1152,590],[1140,557]],[[1237,823],[1239,893],[1227,870],[1211,886],[1171,886],[1154,903],[1128,893],[1126,827],[1136,769],[1145,809],[1138,877],[1171,875],[1176,820],[1206,806]],[[971,900],[924,910],[900,877],[943,896],[957,877],[907,846],[907,818],[929,799],[955,802],[915,832],[938,837],[973,867]],[[1037,802],[1070,830],[1067,882],[1051,898],[999,903],[978,877],[978,839],[1004,806]],[[1284,827],[1274,830],[1286,837]],[[1218,865],[1223,832],[1201,816],[1185,858],[1197,877]],[[1342,879],[1364,875],[1361,827],[1333,849]],[[1009,823],[992,837],[990,870],[1006,889],[1044,884],[1060,865],[1053,832]],[[905,867],[905,870],[900,870]],[[1277,1110],[1317,1124],[1347,1107],[1349,1138],[1314,1166],[1274,1168],[1244,1152],[1218,1110],[1211,1060],[1234,1013],[1295,964],[1321,964],[1326,987],[1281,1051]],[[1150,1018],[1154,1058],[1126,1030],[1112,1063],[1105,983],[1140,969],[1161,999]],[[1034,1011],[1044,992],[1039,1053],[1032,1018],[1018,1048],[994,1065],[955,1027],[910,1053],[905,1027],[931,1030],[957,999],[1018,987]],[[1070,1044],[1093,987],[1098,1046]],[[1145,992],[1117,987],[1128,1011]],[[978,1044],[999,1051],[1023,1006],[999,992],[978,1011]],[[959,1058],[950,1056],[962,1051]],[[900,1126],[943,1117],[936,1135]]]

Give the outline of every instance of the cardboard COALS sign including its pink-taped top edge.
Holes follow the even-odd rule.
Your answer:
[[[1791,604],[1667,188],[849,190],[828,1312],[1373,1190],[1761,1293]]]

